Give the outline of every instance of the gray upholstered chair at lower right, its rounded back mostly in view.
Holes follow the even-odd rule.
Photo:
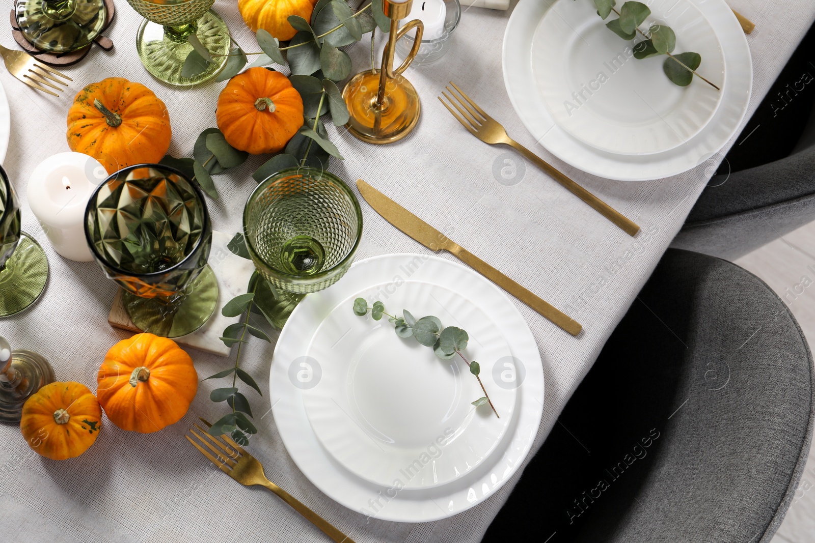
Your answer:
[[[813,384],[764,282],[670,249],[483,541],[767,543],[804,471]]]

